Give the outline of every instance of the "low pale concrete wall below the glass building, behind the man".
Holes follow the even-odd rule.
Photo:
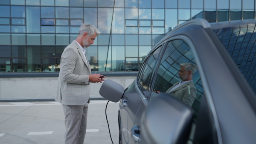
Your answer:
[[[112,80],[128,87],[135,76],[108,76]],[[0,98],[54,98],[58,77],[41,78],[0,78]],[[90,84],[90,98],[102,98],[99,89],[102,83]]]

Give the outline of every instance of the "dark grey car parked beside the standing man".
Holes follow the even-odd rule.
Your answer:
[[[180,63],[193,63],[189,107],[166,94]],[[157,93],[159,91],[160,93]],[[119,144],[255,144],[256,20],[190,20],[160,40],[125,90],[107,80],[100,94],[118,102]]]

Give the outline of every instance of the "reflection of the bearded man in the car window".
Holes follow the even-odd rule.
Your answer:
[[[177,82],[166,91],[166,93],[174,95],[190,107],[196,97],[196,89],[192,81],[196,69],[196,66],[192,63],[180,63],[178,75],[181,81]]]

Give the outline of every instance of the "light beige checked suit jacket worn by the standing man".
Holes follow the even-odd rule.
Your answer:
[[[91,70],[88,58],[87,63],[88,65],[78,43],[73,40],[61,55],[55,101],[65,105],[85,105],[89,103],[89,75]]]

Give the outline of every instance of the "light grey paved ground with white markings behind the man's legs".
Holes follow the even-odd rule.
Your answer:
[[[105,117],[107,100],[90,101],[84,144],[112,144]],[[119,103],[109,102],[108,123],[118,144]],[[55,101],[1,102],[0,144],[64,144],[64,113]]]

